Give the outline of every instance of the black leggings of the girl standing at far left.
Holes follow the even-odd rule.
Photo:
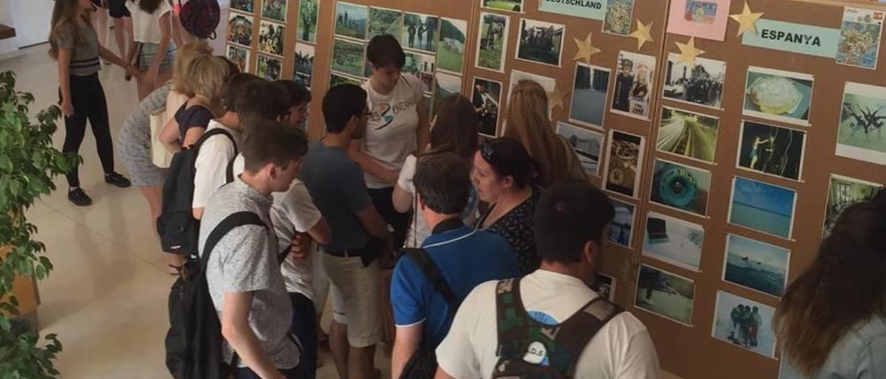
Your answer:
[[[108,104],[105,100],[105,89],[98,81],[98,73],[89,76],[70,75],[71,103],[74,105],[74,116],[65,118],[64,152],[80,152],[80,144],[86,135],[86,121],[92,126],[92,135],[96,137],[98,158],[102,161],[105,174],[113,173],[113,143],[111,142],[111,126],[108,121]],[[59,95],[59,97],[61,97]],[[80,175],[77,166],[67,173],[67,184],[80,187]]]

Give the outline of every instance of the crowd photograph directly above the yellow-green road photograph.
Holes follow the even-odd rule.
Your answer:
[[[722,109],[726,62],[696,58],[696,65],[691,66],[680,61],[680,54],[670,53],[664,70],[664,97]]]

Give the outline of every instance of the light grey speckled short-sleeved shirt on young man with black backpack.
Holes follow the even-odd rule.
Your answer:
[[[206,263],[206,282],[220,318],[225,292],[253,292],[249,326],[276,367],[286,369],[299,364],[299,351],[289,334],[292,306],[277,263],[276,235],[269,216],[272,201],[239,177],[221,187],[206,203],[199,248],[202,256],[209,234],[232,213],[253,212],[268,225],[268,229],[245,225],[222,237]],[[224,358],[231,357],[231,348],[225,344]],[[239,367],[245,367],[242,361]]]

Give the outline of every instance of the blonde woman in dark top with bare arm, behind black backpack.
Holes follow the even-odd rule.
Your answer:
[[[201,55],[190,62],[182,85],[193,97],[178,108],[160,132],[160,143],[167,150],[177,152],[197,143],[209,121],[221,116],[222,91],[232,73],[236,72],[225,58]]]

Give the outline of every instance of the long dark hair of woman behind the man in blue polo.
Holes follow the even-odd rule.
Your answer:
[[[463,95],[447,97],[439,105],[431,128],[431,151],[451,151],[466,162],[477,151],[477,112]]]

